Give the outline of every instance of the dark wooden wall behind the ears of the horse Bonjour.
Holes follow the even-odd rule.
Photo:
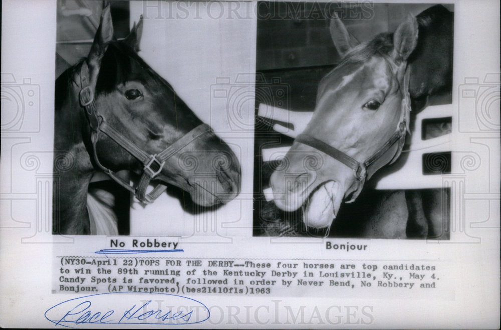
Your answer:
[[[339,55],[329,34],[333,12],[360,42],[393,32],[407,14],[430,4],[258,3],[256,69],[335,65]],[[453,6],[449,8],[453,10]]]

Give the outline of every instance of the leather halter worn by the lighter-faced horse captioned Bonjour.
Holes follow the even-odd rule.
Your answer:
[[[402,107],[400,111],[400,120],[398,121],[396,131],[391,135],[390,139],[380,147],[372,156],[368,157],[362,162],[359,162],[353,157],[350,157],[343,151],[321,141],[308,134],[299,134],[295,141],[308,145],[317,149],[328,156],[338,160],[344,165],[353,170],[353,175],[356,180],[356,189],[347,203],[355,201],[362,191],[366,180],[386,164],[392,164],[397,160],[402,152],[407,133],[410,134],[409,117],[411,111],[410,94],[409,94],[409,79],[410,70],[407,68],[403,77],[403,84],[400,84],[400,90],[403,94]]]

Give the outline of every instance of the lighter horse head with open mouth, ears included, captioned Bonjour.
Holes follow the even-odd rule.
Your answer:
[[[303,206],[314,228],[329,227],[342,202],[354,201],[400,155],[410,111],[407,58],[418,37],[412,16],[362,44],[335,15],[330,30],[342,60],[320,81],[311,121],[270,179],[276,205]]]

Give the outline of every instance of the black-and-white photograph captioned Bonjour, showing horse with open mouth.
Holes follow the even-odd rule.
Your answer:
[[[448,240],[454,5],[259,4],[254,235]]]

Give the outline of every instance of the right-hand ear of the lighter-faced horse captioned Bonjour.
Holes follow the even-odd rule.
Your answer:
[[[397,63],[401,63],[409,58],[417,44],[418,24],[415,17],[407,15],[393,34],[393,54],[392,57]]]

